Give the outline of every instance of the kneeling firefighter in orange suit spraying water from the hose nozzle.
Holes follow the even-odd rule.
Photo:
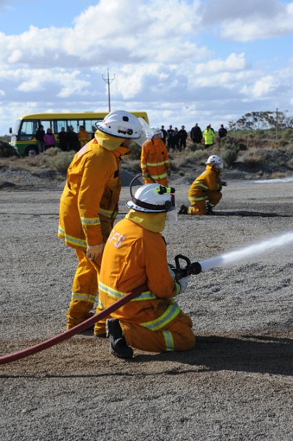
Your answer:
[[[131,347],[186,351],[195,344],[191,318],[173,298],[186,289],[187,278],[175,281],[161,234],[166,214],[177,220],[172,190],[157,183],[140,187],[127,203],[129,213],[115,225],[105,245],[97,313],[140,285],[148,287],[111,318],[96,322],[95,334],[106,329],[114,356],[131,358]]]

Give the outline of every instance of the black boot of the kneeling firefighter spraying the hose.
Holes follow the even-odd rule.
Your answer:
[[[110,339],[110,352],[114,357],[133,357],[133,350],[130,346],[127,346],[127,342],[123,336],[123,332],[117,318],[108,318],[106,321],[106,332],[107,337]]]

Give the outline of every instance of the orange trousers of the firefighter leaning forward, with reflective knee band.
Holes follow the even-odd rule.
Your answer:
[[[66,313],[66,329],[79,325],[90,318],[91,309],[96,301],[98,292],[98,275],[100,274],[101,258],[89,260],[87,254],[76,249],[78,267],[72,284],[72,300]]]

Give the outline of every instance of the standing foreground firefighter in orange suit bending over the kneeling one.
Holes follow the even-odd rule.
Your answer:
[[[140,121],[122,110],[109,113],[96,128],[95,138],[69,165],[61,196],[58,236],[78,257],[67,329],[92,315],[104,243],[118,212],[120,156],[142,131]]]

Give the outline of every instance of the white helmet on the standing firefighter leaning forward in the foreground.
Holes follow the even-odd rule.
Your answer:
[[[129,139],[138,139],[142,133],[138,118],[124,110],[116,110],[107,114],[102,121],[96,123],[96,129],[112,136]]]

